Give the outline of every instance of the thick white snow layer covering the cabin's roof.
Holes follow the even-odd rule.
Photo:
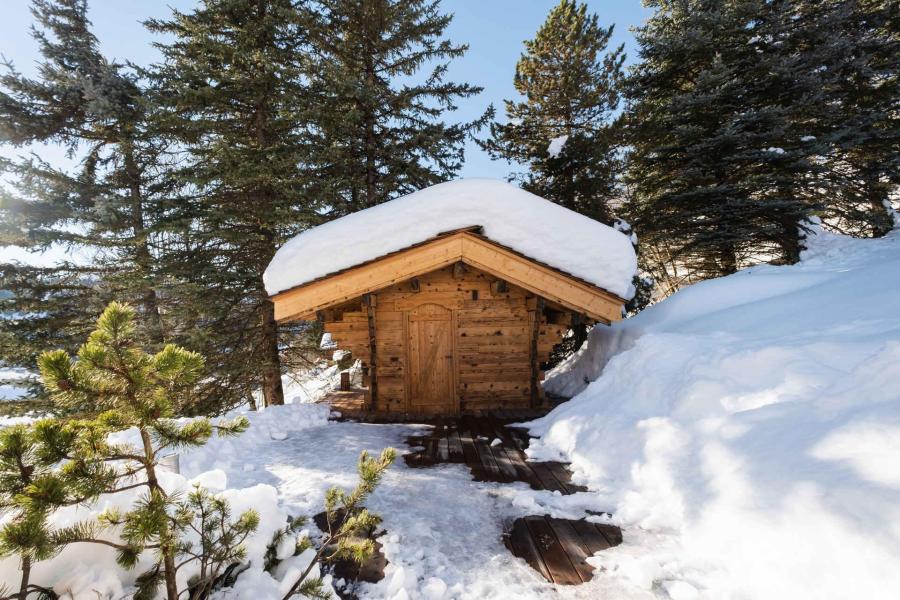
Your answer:
[[[263,281],[274,295],[472,226],[529,258],[620,297],[633,295],[637,259],[625,235],[494,179],[441,183],[304,231],[275,253]]]

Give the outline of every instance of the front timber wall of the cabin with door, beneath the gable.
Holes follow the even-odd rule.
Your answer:
[[[419,335],[417,321],[423,311],[452,315],[447,324],[452,328],[452,343],[447,346],[450,354],[423,357],[419,350],[419,359],[410,361],[410,347],[434,345],[420,338],[411,343],[410,336]],[[320,317],[338,347],[361,359],[364,368],[372,364],[370,333],[374,331],[374,408],[393,412],[452,413],[539,402],[538,381],[543,374],[538,365],[548,360],[569,324],[568,313],[561,307],[462,263],[324,311]],[[443,338],[439,340],[444,344]],[[431,362],[425,364],[428,360]],[[424,366],[417,368],[418,364]],[[444,365],[452,370],[446,404],[422,405],[421,398],[411,397],[413,390],[425,389],[413,378],[430,377],[431,369]],[[413,372],[419,369],[425,374]]]

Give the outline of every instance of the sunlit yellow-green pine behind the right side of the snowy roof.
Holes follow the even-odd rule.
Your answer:
[[[491,125],[483,146],[494,158],[528,168],[522,186],[607,224],[618,195],[620,145],[612,117],[619,105],[623,46],[607,52],[613,26],[587,5],[561,0],[516,64],[506,123]]]

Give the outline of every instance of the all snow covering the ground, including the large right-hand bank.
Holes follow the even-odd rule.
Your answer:
[[[531,424],[534,457],[571,461],[591,491],[472,481],[462,465],[394,465],[370,507],[387,577],[364,598],[893,598],[900,589],[900,232],[821,233],[804,260],[697,284],[612,328],[551,374],[575,394]],[[323,372],[329,381],[334,373]],[[316,384],[289,394],[302,400]],[[406,451],[415,426],[327,422],[324,407],[251,413],[250,430],[181,458],[185,487],[225,488],[263,512],[255,566],[230,597],[279,597],[259,568],[287,515],[351,486],[363,449]],[[102,504],[102,503],[101,503]],[[99,508],[99,507],[94,507]],[[555,587],[503,547],[526,514],[613,512],[624,543],[590,559],[589,584]],[[82,509],[82,515],[87,512]],[[63,514],[65,521],[76,515]],[[0,581],[15,577],[0,561]],[[76,598],[120,597],[134,573],[105,549],[38,565]]]

